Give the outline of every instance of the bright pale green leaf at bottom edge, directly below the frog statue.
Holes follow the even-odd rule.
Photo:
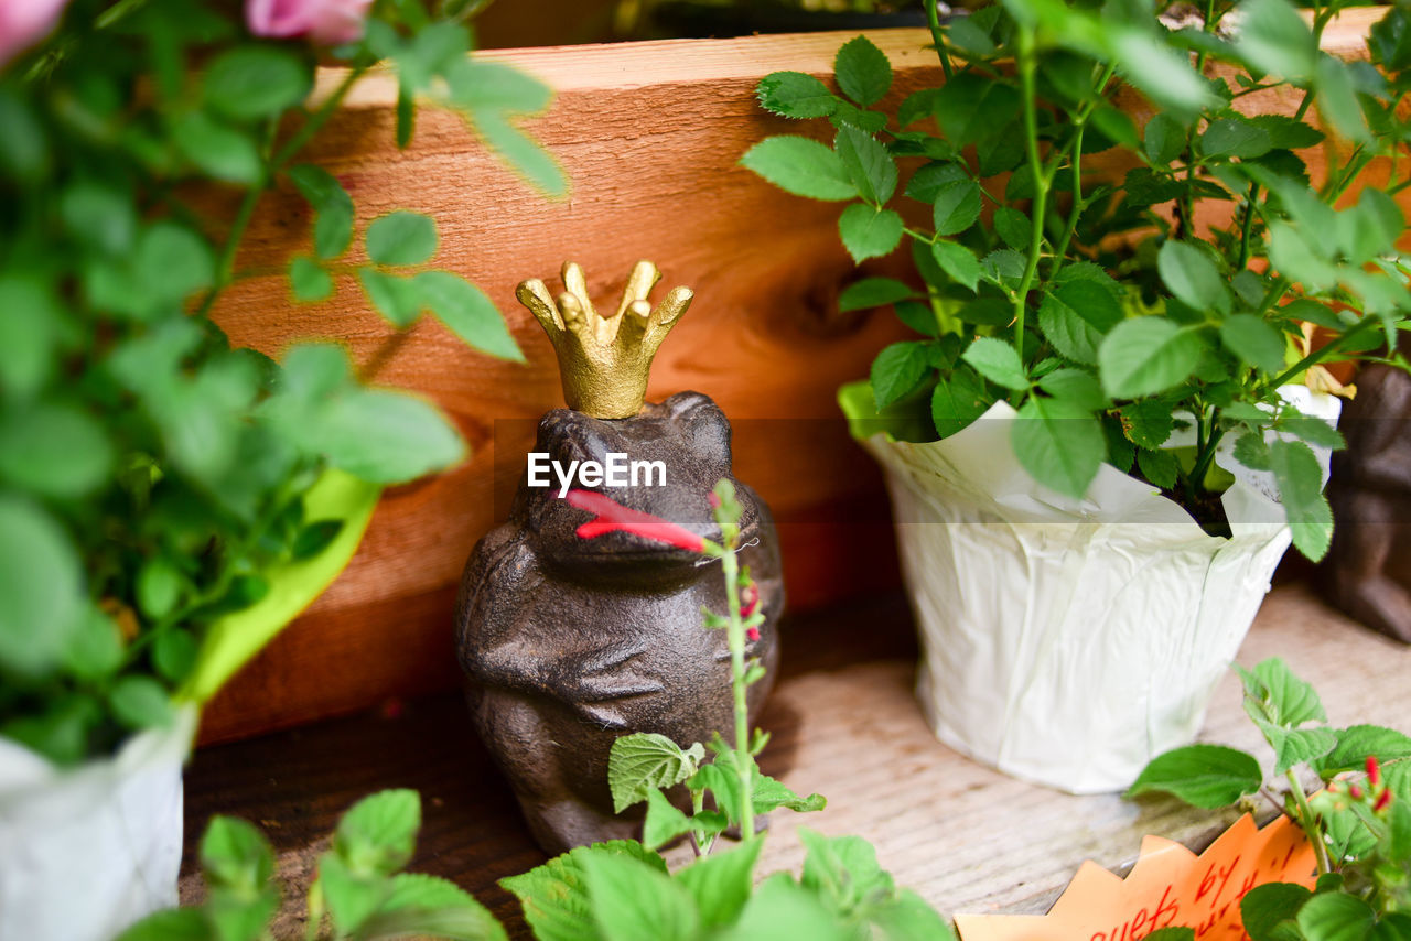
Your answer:
[[[626,855],[588,854],[583,883],[604,941],[687,941],[700,927],[684,886]]]

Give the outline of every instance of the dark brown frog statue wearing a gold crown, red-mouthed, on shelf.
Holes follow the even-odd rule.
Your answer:
[[[564,267],[569,292],[557,303],[542,282],[521,285],[521,300],[555,340],[570,405],[539,422],[535,453],[580,468],[580,477],[584,464],[607,466],[614,454],[635,461],[643,468],[636,485],[631,477],[622,487],[581,478],[573,485],[708,539],[720,532],[707,495],[729,478],[744,506],[741,563],[766,614],[749,656],[772,677],[783,609],[779,550],[769,509],[731,474],[729,423],[698,392],[642,403],[656,346],[690,302],[677,288],[652,310],[645,298],[656,278],[639,262],[610,319],[593,312],[576,265]],[[629,372],[635,392],[621,395],[614,368]],[[639,828],[641,807],[636,815],[612,813],[608,753],[618,736],[658,732],[689,746],[732,728],[725,632],[701,622],[703,607],[727,609],[720,563],[631,532],[580,539],[576,529],[593,516],[562,499],[562,490],[556,475],[536,487],[526,473],[509,522],[476,546],[456,609],[471,715],[552,854]],[[768,687],[768,679],[751,687],[752,714]]]

